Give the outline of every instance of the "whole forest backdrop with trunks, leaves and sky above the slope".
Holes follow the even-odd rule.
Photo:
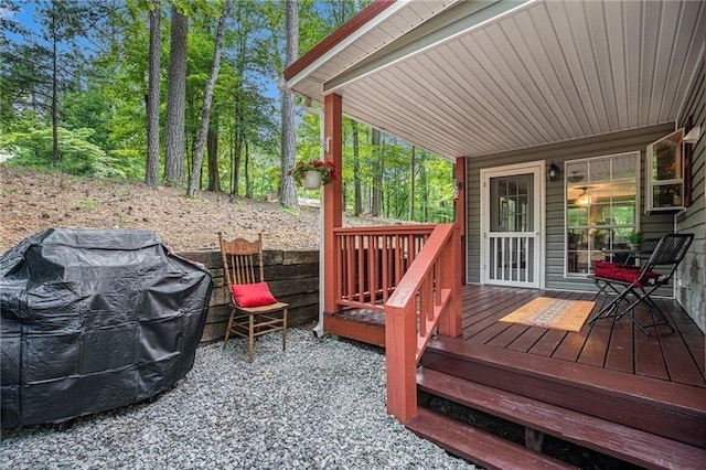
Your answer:
[[[367,3],[0,0],[0,157],[297,210],[320,124],[278,79]],[[341,170],[352,215],[453,220],[451,162],[347,118]]]

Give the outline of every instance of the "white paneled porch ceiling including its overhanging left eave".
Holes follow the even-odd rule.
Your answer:
[[[705,30],[698,0],[398,1],[285,86],[453,160],[675,121]]]

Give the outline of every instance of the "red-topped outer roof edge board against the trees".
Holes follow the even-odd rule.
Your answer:
[[[411,0],[396,0],[392,3],[379,2],[381,8],[384,8],[384,10],[379,12],[375,12],[376,14],[372,19],[365,21],[363,24],[359,25],[356,23],[357,29],[355,29],[354,31],[351,31],[345,38],[343,38],[335,44],[333,45],[324,44],[329,38],[334,39],[338,31],[342,31],[341,34],[345,34],[345,28],[346,25],[349,25],[349,23],[344,24],[340,30],[338,30],[336,32],[334,32],[333,34],[331,34],[329,38],[324,39],[320,43],[320,45],[325,47],[325,50],[317,51],[317,49],[319,47],[319,45],[317,45],[314,46],[314,49],[312,49],[309,53],[304,54],[300,58],[301,64],[308,63],[308,65],[306,65],[303,68],[300,68],[301,67],[301,65],[299,64],[300,61],[297,61],[288,70],[285,71],[284,76],[286,81],[286,86],[288,88],[291,88],[302,79],[306,79],[313,71],[319,68],[322,64],[327,63],[331,57],[333,57],[339,52],[347,47],[351,43],[355,42],[359,38],[364,35],[368,31],[371,31],[373,28],[377,26],[379,23],[382,23],[383,21],[385,21],[386,19],[395,14],[397,11],[405,8],[407,3],[409,3],[410,1]],[[375,4],[376,3],[371,3],[371,7]],[[364,12],[365,10],[363,10],[361,14]],[[353,17],[353,19],[351,19],[351,22],[353,22],[357,18],[359,17]],[[312,53],[312,55],[318,55],[318,57],[317,58],[308,57],[310,53]],[[292,72],[293,72],[293,76],[289,76],[292,74]]]

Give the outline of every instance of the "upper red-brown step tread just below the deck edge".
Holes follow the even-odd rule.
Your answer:
[[[706,449],[421,367],[420,389],[650,468],[699,468]]]

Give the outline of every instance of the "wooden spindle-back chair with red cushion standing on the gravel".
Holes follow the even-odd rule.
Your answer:
[[[282,351],[287,345],[287,310],[289,305],[277,301],[265,282],[263,267],[263,234],[257,241],[235,238],[231,242],[218,232],[223,270],[231,296],[231,318],[223,349],[231,334],[247,338],[253,361],[255,338],[275,331],[282,332]],[[256,271],[259,276],[256,277]],[[238,302],[239,299],[239,302]]]

